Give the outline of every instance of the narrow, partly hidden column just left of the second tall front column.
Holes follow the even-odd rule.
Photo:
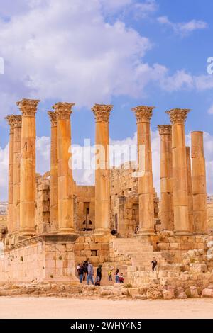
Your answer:
[[[51,230],[58,230],[58,164],[57,164],[57,115],[49,111],[51,122],[50,155],[50,225]]]

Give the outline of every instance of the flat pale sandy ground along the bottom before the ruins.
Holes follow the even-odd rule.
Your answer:
[[[213,319],[213,299],[114,301],[76,298],[0,297],[0,318]]]

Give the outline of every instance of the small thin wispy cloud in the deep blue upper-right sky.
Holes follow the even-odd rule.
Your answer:
[[[191,20],[189,22],[174,23],[171,22],[167,16],[158,17],[158,22],[165,26],[170,26],[170,28],[172,28],[175,33],[181,36],[189,35],[195,30],[206,29],[208,26],[206,22],[201,20]]]

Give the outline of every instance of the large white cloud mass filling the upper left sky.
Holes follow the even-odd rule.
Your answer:
[[[136,72],[150,48],[148,38],[121,21],[106,23],[97,0],[41,2],[0,21],[1,110],[9,113],[23,97],[81,107],[134,96]]]

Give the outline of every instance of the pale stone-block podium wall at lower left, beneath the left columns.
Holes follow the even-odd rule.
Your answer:
[[[26,239],[0,258],[1,282],[72,281],[75,276],[74,239],[38,236]]]

